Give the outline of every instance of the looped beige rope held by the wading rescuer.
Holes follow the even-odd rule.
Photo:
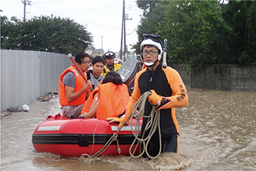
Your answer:
[[[127,118],[127,120],[124,122],[127,123],[127,121],[129,121],[129,118],[137,118],[136,124],[135,124],[135,130],[132,129],[132,119],[131,119],[131,130],[133,135],[135,136],[134,141],[132,142],[130,148],[129,148],[129,154],[133,157],[133,158],[138,158],[141,157],[141,155],[144,154],[144,152],[147,153],[147,156],[149,158],[157,158],[160,153],[161,153],[161,130],[160,130],[160,112],[158,110],[156,110],[157,106],[153,106],[153,109],[151,110],[150,115],[144,115],[144,108],[145,108],[145,104],[147,101],[147,97],[151,95],[150,91],[145,92],[143,95],[141,95],[141,97],[138,99],[138,101],[136,101],[135,105],[132,108],[132,114],[129,115],[129,117]],[[139,109],[138,109],[139,107]],[[138,109],[138,113],[136,113],[136,110]],[[154,117],[155,116],[155,117]],[[141,135],[141,138],[138,138],[138,133],[140,130],[140,118],[141,117],[145,117],[148,118],[147,119],[147,124],[146,127],[144,128],[144,133]],[[94,155],[90,156],[90,158],[95,158],[98,155],[100,155],[101,153],[103,153],[110,144],[112,144],[112,141],[116,141],[117,142],[117,146],[118,146],[118,152],[121,153],[121,149],[119,147],[119,143],[118,143],[118,133],[119,131],[122,129],[122,127],[124,127],[124,124],[120,127],[120,129],[118,129],[118,131],[116,133],[114,133],[112,135],[111,138],[109,138],[109,141],[106,142],[106,144],[99,150],[97,151]],[[152,138],[153,134],[156,132],[157,127],[159,128],[159,154],[156,155],[155,157],[149,155],[149,153],[147,152],[147,145],[150,142],[150,139]],[[144,134],[147,130],[150,129],[150,133],[147,135],[147,138],[143,138]],[[138,141],[138,143],[135,146],[135,149],[132,152],[132,146],[135,144],[135,142]],[[141,152],[140,155],[135,156],[133,155],[135,150],[137,149],[138,145],[140,144],[143,145],[143,152]]]

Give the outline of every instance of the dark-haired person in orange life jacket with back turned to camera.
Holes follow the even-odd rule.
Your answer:
[[[115,71],[106,74],[102,83],[89,95],[79,118],[118,117],[129,102],[129,92],[121,76]]]

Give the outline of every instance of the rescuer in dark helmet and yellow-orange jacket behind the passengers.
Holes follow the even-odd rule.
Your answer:
[[[108,73],[111,70],[117,72],[119,70],[119,68],[121,67],[121,64],[114,63],[115,53],[108,51],[107,53],[105,53],[103,55],[103,58],[106,62],[106,65],[104,66],[103,72],[101,73],[102,76],[105,77],[106,73]]]

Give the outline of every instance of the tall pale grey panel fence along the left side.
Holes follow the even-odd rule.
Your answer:
[[[27,104],[58,89],[58,78],[71,65],[63,54],[1,50],[1,110]]]

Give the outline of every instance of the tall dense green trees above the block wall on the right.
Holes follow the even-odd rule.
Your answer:
[[[143,33],[167,38],[169,63],[252,64],[255,61],[255,1],[137,1]],[[137,52],[139,43],[135,45]]]

